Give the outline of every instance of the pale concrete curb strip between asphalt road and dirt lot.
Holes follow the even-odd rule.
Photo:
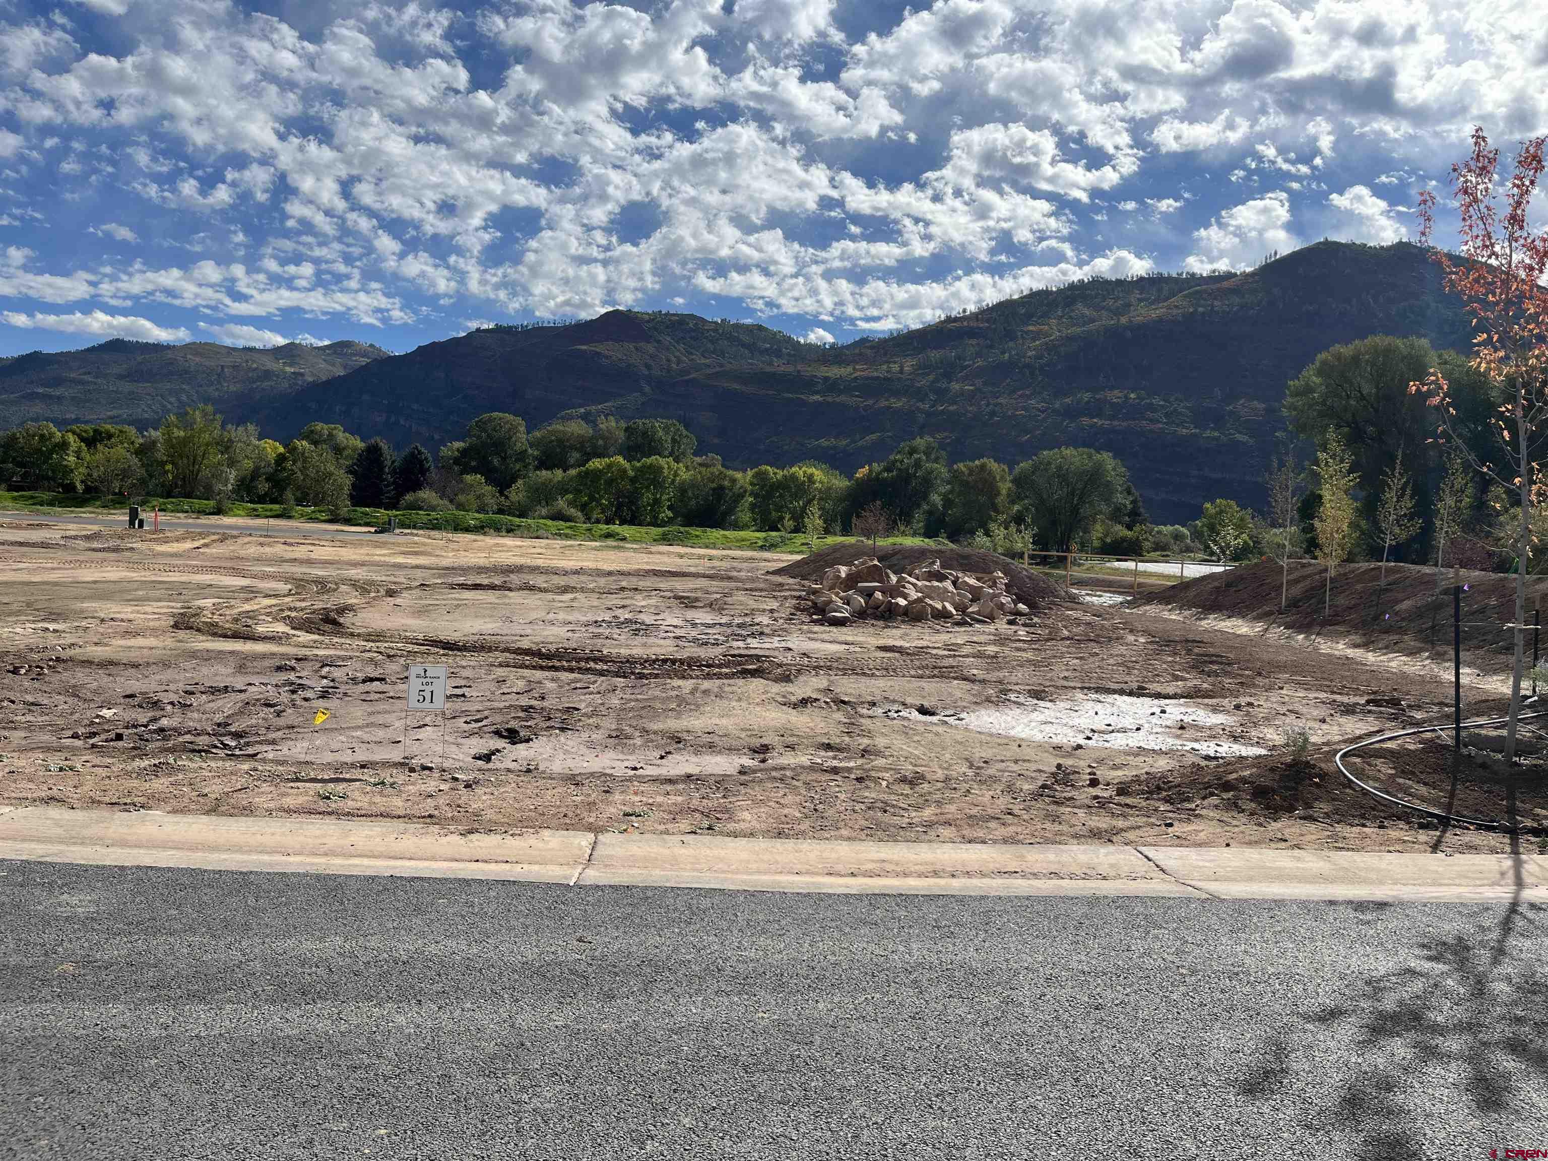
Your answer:
[[[910,895],[1548,902],[1548,856],[460,833],[361,819],[0,808],[0,859]]]

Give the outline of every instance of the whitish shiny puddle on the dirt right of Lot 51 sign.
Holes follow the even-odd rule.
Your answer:
[[[1268,752],[1262,746],[1234,741],[1228,731],[1237,726],[1237,720],[1229,714],[1127,694],[1091,694],[1079,701],[1034,701],[1009,694],[1002,704],[966,714],[932,717],[901,706],[879,709],[878,714],[895,720],[946,721],[978,734],[1104,749],[1187,751],[1211,757]]]

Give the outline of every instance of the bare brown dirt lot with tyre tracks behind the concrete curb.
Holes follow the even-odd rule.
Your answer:
[[[830,628],[802,582],[769,576],[782,562],[9,522],[0,802],[480,831],[1508,848],[1416,825],[1333,769],[1333,743],[1444,717],[1433,672],[1079,604]],[[444,718],[406,711],[410,663],[450,667]],[[1303,762],[1285,751],[1296,728]],[[1540,797],[1514,805],[1548,820]]]

